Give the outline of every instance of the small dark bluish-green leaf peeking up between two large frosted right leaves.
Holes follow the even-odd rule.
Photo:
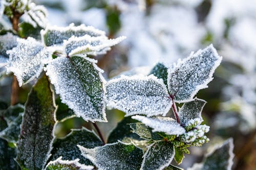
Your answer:
[[[152,70],[150,71],[150,74],[153,74],[158,79],[162,79],[163,83],[167,86],[167,76],[168,76],[168,68],[163,63],[157,63]]]

